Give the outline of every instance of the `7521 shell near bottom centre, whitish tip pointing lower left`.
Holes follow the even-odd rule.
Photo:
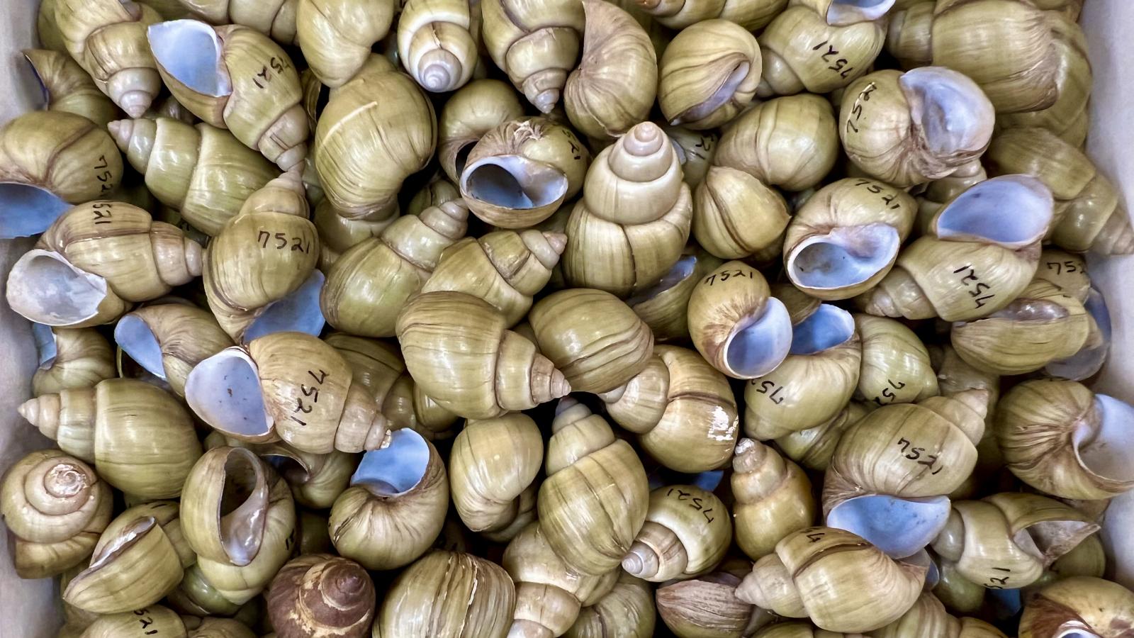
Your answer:
[[[650,493],[645,523],[623,569],[651,582],[708,573],[733,543],[728,509],[711,492],[692,485],[663,486]]]

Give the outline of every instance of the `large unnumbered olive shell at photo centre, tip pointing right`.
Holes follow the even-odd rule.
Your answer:
[[[505,325],[488,302],[431,292],[406,304],[397,333],[406,368],[422,391],[467,419],[527,410],[570,392],[556,364]]]

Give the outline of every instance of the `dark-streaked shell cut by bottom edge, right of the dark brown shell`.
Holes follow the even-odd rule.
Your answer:
[[[499,565],[472,554],[434,551],[393,581],[373,636],[503,638],[516,589]]]

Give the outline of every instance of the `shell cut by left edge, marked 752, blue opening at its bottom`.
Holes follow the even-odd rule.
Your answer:
[[[61,110],[16,117],[0,128],[0,238],[37,235],[71,204],[107,196],[121,179],[113,140],[85,117]]]

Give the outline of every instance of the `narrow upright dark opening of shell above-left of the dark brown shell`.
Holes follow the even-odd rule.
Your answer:
[[[225,460],[225,486],[218,507],[220,543],[232,564],[243,566],[260,553],[268,524],[268,480],[260,459],[232,448]]]

